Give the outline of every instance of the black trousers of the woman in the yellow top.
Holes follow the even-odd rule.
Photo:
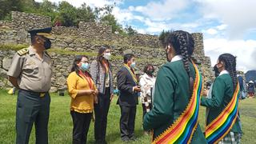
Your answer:
[[[76,111],[70,111],[73,119],[73,144],[85,144],[90,127],[92,113],[82,114]]]

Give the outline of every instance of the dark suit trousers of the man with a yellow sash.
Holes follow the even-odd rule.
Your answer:
[[[136,116],[136,106],[120,106],[120,132],[121,138],[127,139],[134,136],[134,124]]]

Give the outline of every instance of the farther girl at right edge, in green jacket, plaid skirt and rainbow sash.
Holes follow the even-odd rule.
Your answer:
[[[213,90],[211,91],[212,98],[201,98],[201,105],[209,108],[209,114],[206,118],[206,139],[209,143],[239,143],[242,130],[238,123],[239,94],[236,91],[239,90],[239,86],[237,86],[236,58],[232,54],[221,54],[216,66],[220,74],[214,80]],[[233,99],[234,101],[232,101]],[[232,104],[234,108],[232,108]],[[234,114],[226,113],[227,109],[234,110]],[[223,119],[222,114],[225,113],[226,119]],[[218,125],[218,127],[222,127],[223,131],[217,129],[210,131],[209,127],[214,127],[214,122],[226,123],[226,126]],[[207,134],[208,131],[209,135]],[[216,138],[210,138],[210,134],[215,134]]]

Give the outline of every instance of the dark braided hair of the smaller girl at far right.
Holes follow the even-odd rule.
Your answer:
[[[230,77],[232,78],[232,83],[234,86],[234,90],[237,86],[238,78],[237,78],[237,70],[236,70],[236,65],[237,65],[237,60],[236,57],[232,54],[221,54],[218,57],[219,62],[224,62],[225,69],[230,73]]]

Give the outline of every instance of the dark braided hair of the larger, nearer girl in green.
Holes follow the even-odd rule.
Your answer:
[[[190,92],[192,92],[194,88],[194,79],[192,77],[192,73],[190,72],[189,65],[191,55],[194,51],[194,39],[192,38],[192,35],[182,30],[173,31],[169,34],[167,38],[167,44],[174,47],[176,54],[182,55],[182,62],[184,64],[184,68],[190,78]]]

